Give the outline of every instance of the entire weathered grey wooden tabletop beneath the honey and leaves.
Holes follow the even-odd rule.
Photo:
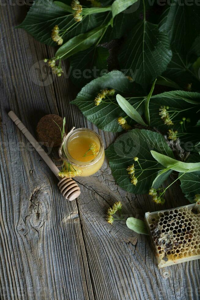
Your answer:
[[[134,235],[123,221],[106,223],[116,200],[124,216],[142,218],[158,209],[149,196],[122,191],[106,161],[94,176],[78,179],[76,201],[61,196],[57,179],[7,112],[14,110],[33,134],[49,113],[68,116],[69,128],[98,129],[69,104],[76,92],[66,78],[48,84],[39,77],[37,62],[54,50],[14,29],[26,7],[7,4],[1,14],[1,298],[199,299],[199,261],[158,270],[148,237]],[[106,147],[114,141],[112,133],[99,132]],[[165,208],[187,203],[178,185],[166,198]]]

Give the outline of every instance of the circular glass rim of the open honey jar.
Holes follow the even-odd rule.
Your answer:
[[[76,133],[79,133],[79,132],[82,132],[82,131],[89,131],[91,133],[93,133],[99,140],[99,145],[100,145],[100,148],[99,148],[99,152],[97,154],[96,157],[94,157],[91,161],[87,161],[87,162],[81,162],[79,160],[76,160],[74,159],[70,154],[69,154],[69,151],[68,151],[68,142],[70,141],[70,139],[76,134]],[[72,164],[75,164],[76,166],[91,166],[93,164],[95,164],[102,156],[102,153],[103,153],[103,150],[104,150],[104,144],[103,144],[103,141],[102,141],[102,138],[100,137],[100,135],[98,133],[96,133],[94,130],[91,130],[89,128],[77,128],[75,130],[73,130],[69,136],[67,137],[67,139],[65,140],[65,143],[63,145],[63,148],[64,148],[64,152],[65,152],[65,155],[67,156],[68,158],[68,161]]]

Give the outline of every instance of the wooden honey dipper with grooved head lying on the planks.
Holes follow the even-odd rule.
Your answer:
[[[56,167],[56,165],[46,154],[46,152],[43,150],[40,144],[35,140],[35,138],[28,131],[28,129],[24,126],[24,124],[20,121],[20,119],[16,116],[16,114],[13,111],[9,111],[8,115],[13,120],[13,122],[17,125],[17,127],[21,130],[21,132],[25,135],[28,141],[33,145],[33,147],[39,153],[39,155],[43,158],[47,166],[56,175],[56,177],[59,180],[58,186],[61,191],[61,194],[69,201],[76,199],[80,195],[80,187],[77,185],[77,183],[72,178],[61,179],[58,176],[59,170]]]

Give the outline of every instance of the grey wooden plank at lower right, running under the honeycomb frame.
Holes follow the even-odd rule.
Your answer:
[[[114,201],[123,203],[125,218],[143,218],[146,211],[160,209],[148,195],[122,191],[109,173],[105,162],[96,176],[78,179],[82,191],[78,210],[95,299],[199,299],[199,260],[159,270],[149,237],[135,235],[123,221],[112,226],[105,222]],[[164,208],[186,203],[174,185]]]

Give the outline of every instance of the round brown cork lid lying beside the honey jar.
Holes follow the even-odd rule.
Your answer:
[[[39,120],[37,125],[37,138],[47,147],[58,147],[61,144],[61,131],[54,121],[62,130],[63,118],[57,114],[47,114]],[[67,133],[66,125],[65,133]]]

